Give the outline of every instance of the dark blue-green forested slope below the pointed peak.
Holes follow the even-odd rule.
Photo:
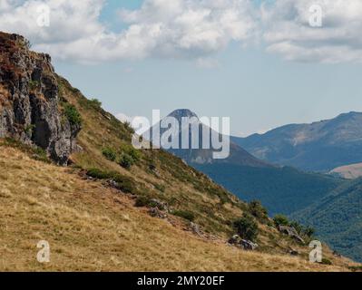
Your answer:
[[[292,168],[251,168],[233,165],[197,166],[243,200],[259,199],[270,214],[289,215],[306,208],[344,182]]]

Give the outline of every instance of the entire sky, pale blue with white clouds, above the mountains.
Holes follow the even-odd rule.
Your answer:
[[[152,109],[166,115],[188,108],[200,116],[229,116],[231,132],[245,136],[362,111],[360,1],[348,1],[353,9],[322,0],[259,0],[251,8],[249,0],[192,0],[191,5],[174,0],[177,7],[147,1],[84,0],[81,6],[60,0],[69,19],[61,23],[57,7],[51,15],[58,26],[41,32],[19,22],[5,24],[7,16],[25,21],[28,15],[5,5],[4,11],[0,7],[0,30],[24,34],[35,50],[51,53],[57,73],[114,114],[151,117]],[[268,13],[256,11],[265,2],[271,3]],[[306,25],[308,2],[327,3],[323,27]],[[52,7],[54,0],[44,3]],[[122,8],[127,10],[121,15]],[[182,25],[167,9],[175,18],[182,16]],[[200,16],[205,9],[212,17]],[[220,14],[227,15],[227,24]],[[166,29],[154,40],[152,28],[159,23]],[[200,34],[192,24],[201,27]],[[125,35],[136,26],[143,30],[130,40]],[[222,37],[214,37],[210,27]],[[94,40],[93,35],[99,36]]]

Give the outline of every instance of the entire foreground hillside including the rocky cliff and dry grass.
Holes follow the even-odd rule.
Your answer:
[[[326,249],[332,266],[310,265],[310,249],[280,234],[261,206],[170,153],[135,150],[130,126],[56,75],[49,55],[30,52],[19,35],[2,39],[0,270],[328,271],[352,264]],[[228,245],[237,230],[251,233],[258,250]],[[51,246],[45,266],[35,259],[43,239]]]

